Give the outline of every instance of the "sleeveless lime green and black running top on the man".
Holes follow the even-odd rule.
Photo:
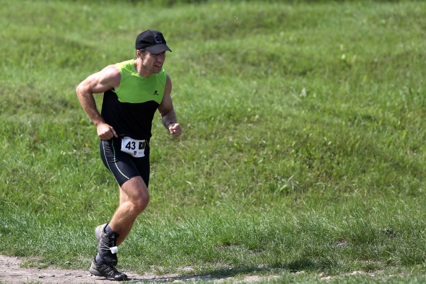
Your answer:
[[[148,78],[143,77],[136,71],[133,59],[115,65],[120,70],[120,84],[117,89],[103,93],[101,115],[118,136],[149,140],[167,74],[161,69]]]

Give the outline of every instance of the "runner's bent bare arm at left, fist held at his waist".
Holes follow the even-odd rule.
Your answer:
[[[114,65],[108,65],[99,72],[91,74],[78,84],[76,93],[78,100],[88,117],[96,126],[97,135],[102,140],[108,140],[113,136],[117,137],[114,128],[105,123],[96,108],[93,93],[102,93],[109,89],[115,89],[120,83],[120,71]]]

